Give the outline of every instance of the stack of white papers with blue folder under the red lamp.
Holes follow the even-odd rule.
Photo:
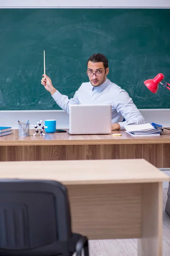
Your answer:
[[[160,135],[162,125],[156,123],[147,123],[143,125],[125,125],[126,133],[131,136],[135,135]]]

